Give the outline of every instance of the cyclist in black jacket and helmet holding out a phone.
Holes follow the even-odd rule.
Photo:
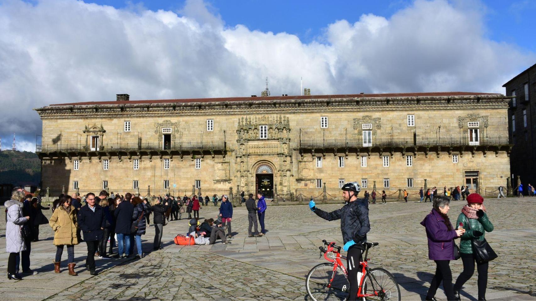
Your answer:
[[[344,184],[343,197],[347,202],[341,209],[333,212],[325,212],[316,207],[311,199],[309,207],[312,212],[325,220],[340,219],[340,230],[343,233],[343,249],[348,252],[346,265],[348,281],[350,283],[350,295],[348,300],[355,300],[358,295],[359,275],[361,275],[360,262],[363,243],[367,241],[367,232],[370,230],[368,218],[368,204],[363,199],[358,199],[361,187],[356,182]]]

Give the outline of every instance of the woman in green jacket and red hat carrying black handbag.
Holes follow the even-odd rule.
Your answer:
[[[482,204],[484,199],[479,194],[467,196],[467,205],[461,209],[457,225],[460,223],[465,229],[460,240],[460,257],[464,264],[464,270],[458,276],[454,284],[455,300],[460,300],[460,289],[467,280],[473,276],[475,257],[471,240],[482,241],[485,232],[493,231],[493,225],[486,214],[486,207]],[[469,223],[469,225],[467,225]],[[478,270],[478,299],[486,300],[486,287],[488,285],[488,261],[477,262]]]

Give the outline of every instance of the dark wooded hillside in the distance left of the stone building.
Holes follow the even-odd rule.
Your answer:
[[[35,153],[0,151],[0,183],[38,185],[40,180],[41,162]]]

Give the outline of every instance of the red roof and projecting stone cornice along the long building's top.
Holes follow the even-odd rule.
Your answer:
[[[158,103],[120,105],[44,106],[34,109],[41,119],[171,117],[182,114],[240,115],[316,112],[382,112],[423,110],[508,109],[510,97],[504,95],[440,97],[373,97],[338,99],[300,99],[280,101],[240,101],[207,103]]]

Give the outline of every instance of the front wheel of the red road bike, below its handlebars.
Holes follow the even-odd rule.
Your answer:
[[[348,298],[350,283],[340,267],[333,272],[332,263],[322,263],[312,268],[305,283],[307,294],[314,301],[341,301]]]

